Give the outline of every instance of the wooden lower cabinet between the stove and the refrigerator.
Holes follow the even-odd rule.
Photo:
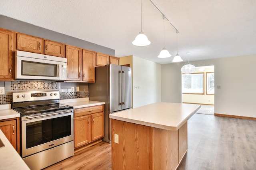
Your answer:
[[[104,105],[74,109],[74,148],[104,137]]]

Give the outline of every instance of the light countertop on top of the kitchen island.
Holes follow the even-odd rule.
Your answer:
[[[109,115],[111,119],[166,130],[178,130],[201,105],[186,103],[153,103]]]

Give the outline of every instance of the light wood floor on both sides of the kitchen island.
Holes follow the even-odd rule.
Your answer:
[[[132,162],[131,162],[132,163]],[[111,144],[100,142],[47,170],[111,170]],[[178,170],[255,170],[256,121],[194,114]]]

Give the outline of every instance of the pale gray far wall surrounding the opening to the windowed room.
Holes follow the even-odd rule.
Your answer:
[[[192,61],[196,67],[214,65],[215,113],[256,117],[256,55]],[[185,63],[162,65],[162,102],[181,103],[181,71]],[[217,89],[217,85],[220,89]]]

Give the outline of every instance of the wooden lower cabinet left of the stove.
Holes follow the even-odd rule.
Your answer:
[[[0,120],[0,129],[20,154],[20,118]]]

